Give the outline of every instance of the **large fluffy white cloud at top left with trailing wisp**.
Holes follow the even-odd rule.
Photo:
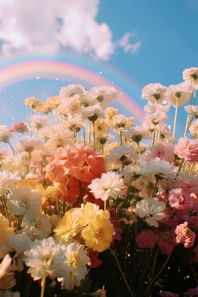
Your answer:
[[[96,16],[99,0],[0,0],[0,44],[4,55],[16,51],[56,52],[70,48],[107,60],[117,46],[135,53],[132,33],[119,42]]]

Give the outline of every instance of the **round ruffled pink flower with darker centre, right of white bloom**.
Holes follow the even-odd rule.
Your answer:
[[[189,209],[193,206],[190,194],[181,188],[172,189],[169,192],[168,200],[171,207],[175,207],[180,210]]]

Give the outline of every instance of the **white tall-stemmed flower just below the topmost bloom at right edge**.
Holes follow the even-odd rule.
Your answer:
[[[189,90],[189,85],[187,85],[186,82],[178,85],[170,85],[167,88],[166,99],[174,107],[176,106],[177,100],[178,106],[181,106],[187,103],[190,98],[191,91]]]

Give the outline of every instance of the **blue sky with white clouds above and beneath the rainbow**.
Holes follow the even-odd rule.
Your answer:
[[[178,84],[185,68],[198,66],[197,18],[197,0],[0,0],[0,68],[41,58],[79,63],[112,76],[143,106],[145,85]],[[62,85],[41,77],[0,87],[9,107],[0,124],[24,119],[19,101],[47,99]],[[184,115],[181,107],[180,126]],[[172,125],[173,116],[171,109]]]

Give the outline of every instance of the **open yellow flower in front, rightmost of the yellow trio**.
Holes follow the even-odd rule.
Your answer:
[[[113,225],[103,214],[96,214],[87,227],[82,230],[82,237],[85,239],[85,245],[99,252],[108,249],[113,241]]]

